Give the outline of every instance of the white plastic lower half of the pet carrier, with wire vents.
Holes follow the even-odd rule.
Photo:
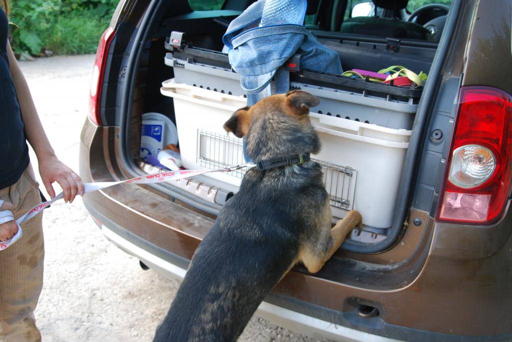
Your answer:
[[[168,80],[161,93],[174,98],[176,126],[183,165],[214,169],[243,163],[241,140],[228,135],[223,124],[246,105],[246,99]],[[310,113],[322,140],[312,155],[324,167],[333,216],[355,209],[363,223],[376,228],[392,225],[400,173],[409,146],[410,130],[392,129],[343,118]],[[243,173],[211,173],[239,186]]]

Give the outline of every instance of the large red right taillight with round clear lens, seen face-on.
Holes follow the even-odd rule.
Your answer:
[[[437,221],[489,224],[510,194],[512,99],[500,89],[461,89]]]

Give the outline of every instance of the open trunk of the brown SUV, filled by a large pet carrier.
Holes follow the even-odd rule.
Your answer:
[[[121,118],[120,136],[124,159],[133,165],[134,174],[160,170],[140,154],[142,115],[148,112],[161,113],[177,126],[187,168],[216,169],[244,162],[241,140],[222,129],[229,113],[245,103],[239,77],[221,52],[226,22],[238,13],[187,13],[186,6],[171,8],[159,0],[148,7],[142,19],[145,26],[141,26],[146,29],[133,38],[135,48],[125,57],[134,76],[131,84],[123,85],[129,94],[121,104],[131,113]],[[184,32],[182,40],[187,44],[180,41],[173,47],[169,40],[172,31]],[[449,25],[445,31],[450,31]],[[437,79],[442,56],[436,56],[436,44],[402,41],[395,52],[389,40],[322,31],[315,34],[338,52],[344,70],[377,71],[404,65]],[[439,50],[438,55],[444,53]],[[430,98],[425,96],[432,92],[303,70],[290,75],[292,89],[309,91],[321,99],[310,114],[323,142],[323,150],[313,158],[323,166],[333,221],[351,209],[364,217],[362,229],[354,230],[342,249],[363,254],[389,249],[407,225],[414,175],[411,166],[428,115]],[[423,106],[421,102],[425,102]],[[166,184],[159,190],[187,208],[215,217],[237,192],[243,174],[244,170],[211,173]]]

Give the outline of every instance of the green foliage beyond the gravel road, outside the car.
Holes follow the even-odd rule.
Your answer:
[[[94,53],[119,0],[13,0],[14,52]]]

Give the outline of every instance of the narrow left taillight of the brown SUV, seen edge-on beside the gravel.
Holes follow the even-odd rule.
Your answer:
[[[109,27],[101,35],[96,50],[93,76],[91,79],[91,90],[89,93],[89,117],[96,125],[101,125],[99,106],[101,102],[101,88],[105,73],[105,61],[109,51],[110,42],[114,38],[114,29]]]

